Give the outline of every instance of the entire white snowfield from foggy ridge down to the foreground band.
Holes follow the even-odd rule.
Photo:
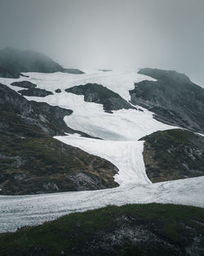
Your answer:
[[[78,146],[92,155],[108,159],[118,167],[114,179],[120,186],[100,191],[64,192],[47,195],[0,196],[0,232],[15,231],[25,225],[36,225],[66,213],[96,209],[108,204],[173,203],[204,207],[204,177],[193,177],[171,182],[151,183],[145,173],[141,137],[157,130],[175,128],[153,119],[153,113],[139,110],[117,110],[105,113],[103,106],[85,102],[83,96],[64,92],[64,89],[86,83],[99,83],[130,100],[129,90],[134,83],[153,80],[135,72],[102,72],[88,74],[27,73],[29,78],[0,79],[13,90],[14,81],[27,80],[54,94],[47,97],[26,97],[44,101],[51,106],[73,110],[64,117],[75,130],[86,132],[103,140],[80,137],[78,134],[55,137],[72,146]],[[55,89],[61,92],[56,93]]]

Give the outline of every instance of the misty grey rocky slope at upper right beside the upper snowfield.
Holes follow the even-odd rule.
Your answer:
[[[156,82],[135,83],[131,101],[153,111],[155,119],[204,133],[204,89],[175,71],[142,69]]]

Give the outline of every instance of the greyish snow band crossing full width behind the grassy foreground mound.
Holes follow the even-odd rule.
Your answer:
[[[204,207],[204,177],[173,182],[131,184],[100,191],[65,192],[47,195],[0,196],[0,232],[37,225],[64,214],[97,209],[109,204],[152,202]]]

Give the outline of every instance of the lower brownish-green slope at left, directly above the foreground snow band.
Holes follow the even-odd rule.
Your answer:
[[[52,137],[1,132],[0,195],[87,191],[118,186],[118,168]]]

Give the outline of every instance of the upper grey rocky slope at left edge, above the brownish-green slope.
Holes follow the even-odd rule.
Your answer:
[[[0,129],[25,137],[44,132],[51,136],[62,135],[73,131],[64,123],[64,116],[72,112],[47,103],[28,101],[0,84]]]

